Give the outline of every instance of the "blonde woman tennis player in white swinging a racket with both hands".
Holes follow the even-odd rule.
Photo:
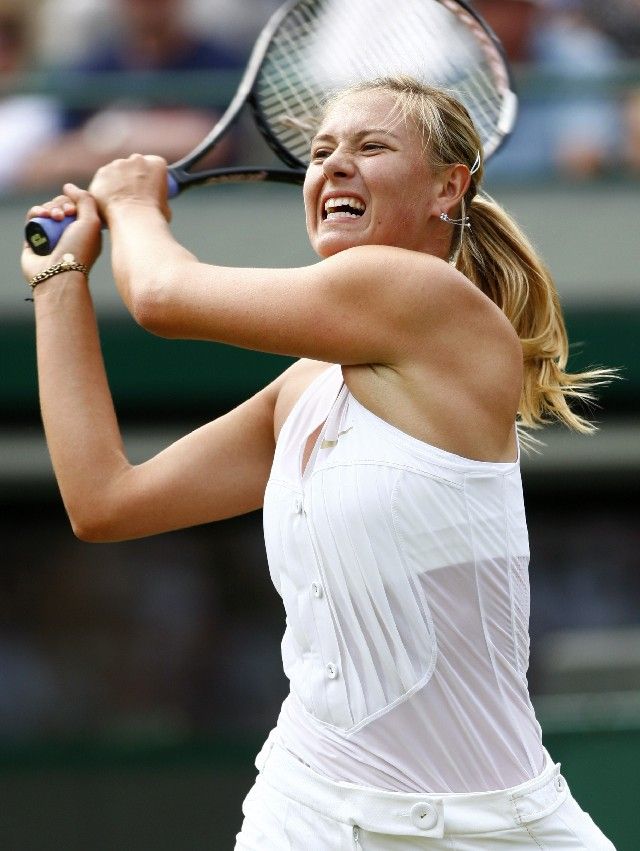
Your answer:
[[[154,157],[29,211],[78,216],[53,271],[23,254],[76,534],[136,538],[264,507],[291,691],[237,849],[613,847],[543,749],[529,700],[516,430],[590,430],[568,399],[606,375],[565,371],[554,285],[478,195],[482,172],[463,107],[387,79],[327,105],[304,186],[321,258],[308,267],[200,263],[170,233]],[[140,465],[123,451],[84,273],[101,219],[145,328],[299,358]]]

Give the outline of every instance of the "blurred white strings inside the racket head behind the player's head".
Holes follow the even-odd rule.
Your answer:
[[[324,96],[404,74],[445,88],[472,115],[487,155],[499,144],[509,80],[494,41],[453,0],[303,0],[272,37],[256,103],[269,131],[308,162]]]

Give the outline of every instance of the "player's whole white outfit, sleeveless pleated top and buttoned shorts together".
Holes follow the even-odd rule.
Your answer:
[[[333,366],[280,433],[264,524],[291,693],[236,851],[615,851],[529,702],[517,461],[409,437]]]

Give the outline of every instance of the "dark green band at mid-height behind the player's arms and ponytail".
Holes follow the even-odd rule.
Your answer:
[[[622,368],[623,380],[606,397],[613,406],[637,409],[640,399],[640,307],[572,308],[567,314],[571,366]],[[114,398],[122,413],[157,411],[206,415],[236,404],[273,379],[287,358],[214,343],[163,340],[127,318],[100,320],[100,334]],[[33,323],[5,320],[0,335],[0,414],[37,411]]]

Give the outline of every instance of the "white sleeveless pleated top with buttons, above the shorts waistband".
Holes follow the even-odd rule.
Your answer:
[[[264,526],[287,616],[282,746],[332,779],[392,791],[504,789],[541,771],[517,462],[401,432],[336,365],[282,429]]]

